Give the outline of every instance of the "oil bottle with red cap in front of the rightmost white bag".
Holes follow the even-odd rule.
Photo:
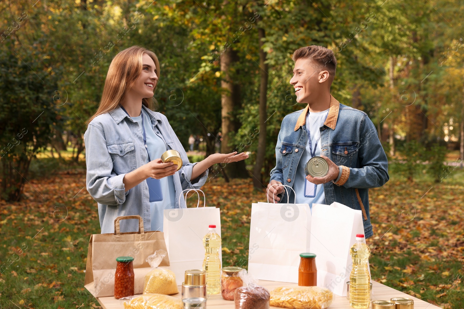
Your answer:
[[[367,269],[371,250],[364,243],[364,234],[356,234],[356,242],[350,249],[353,268],[349,276],[349,302],[353,308],[369,308],[371,276]]]

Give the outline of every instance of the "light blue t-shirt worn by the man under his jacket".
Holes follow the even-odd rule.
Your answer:
[[[303,154],[300,158],[300,162],[298,163],[298,168],[296,169],[295,175],[295,183],[293,185],[293,189],[295,190],[296,194],[296,204],[308,204],[309,209],[312,211],[313,203],[316,204],[325,204],[325,195],[324,195],[324,185],[318,184],[316,186],[316,196],[314,197],[307,197],[305,196],[305,184],[307,186],[306,193],[311,192],[307,195],[314,195],[312,194],[314,189],[314,184],[309,183],[306,179],[306,174],[304,173],[304,166],[308,163],[309,159],[311,158],[311,154],[309,152],[309,136],[311,137],[311,149],[316,153],[314,156],[321,155],[321,131],[319,128],[323,126],[327,115],[329,114],[329,109],[319,112],[319,113],[310,113],[306,115],[306,125],[303,126],[303,129],[306,131],[306,135],[308,139],[306,140],[306,148],[303,151]],[[317,142],[317,147],[316,147]],[[290,201],[292,202],[292,201]]]

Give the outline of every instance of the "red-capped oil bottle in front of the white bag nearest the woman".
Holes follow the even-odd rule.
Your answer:
[[[208,294],[219,294],[221,291],[221,261],[219,260],[221,237],[215,229],[215,225],[210,225],[209,233],[203,237],[203,246],[205,246],[203,270],[206,271],[206,292]]]

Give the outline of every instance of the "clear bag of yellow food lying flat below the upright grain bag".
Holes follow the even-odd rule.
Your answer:
[[[182,301],[162,294],[143,294],[124,302],[124,309],[182,309]]]

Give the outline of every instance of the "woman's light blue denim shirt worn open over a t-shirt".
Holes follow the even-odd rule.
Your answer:
[[[206,183],[208,170],[190,181],[193,166],[175,135],[168,119],[142,105],[152,126],[163,136],[168,149],[179,151],[182,168],[174,174],[175,208],[186,208],[179,196],[184,189],[200,189]],[[95,117],[84,133],[87,165],[87,191],[98,204],[98,216],[102,233],[114,233],[114,221],[118,216],[138,214],[143,218],[145,231],[151,229],[148,185],[144,180],[125,191],[122,179],[127,173],[141,167],[148,157],[139,125],[121,107]],[[138,221],[122,220],[121,232],[138,231]]]

